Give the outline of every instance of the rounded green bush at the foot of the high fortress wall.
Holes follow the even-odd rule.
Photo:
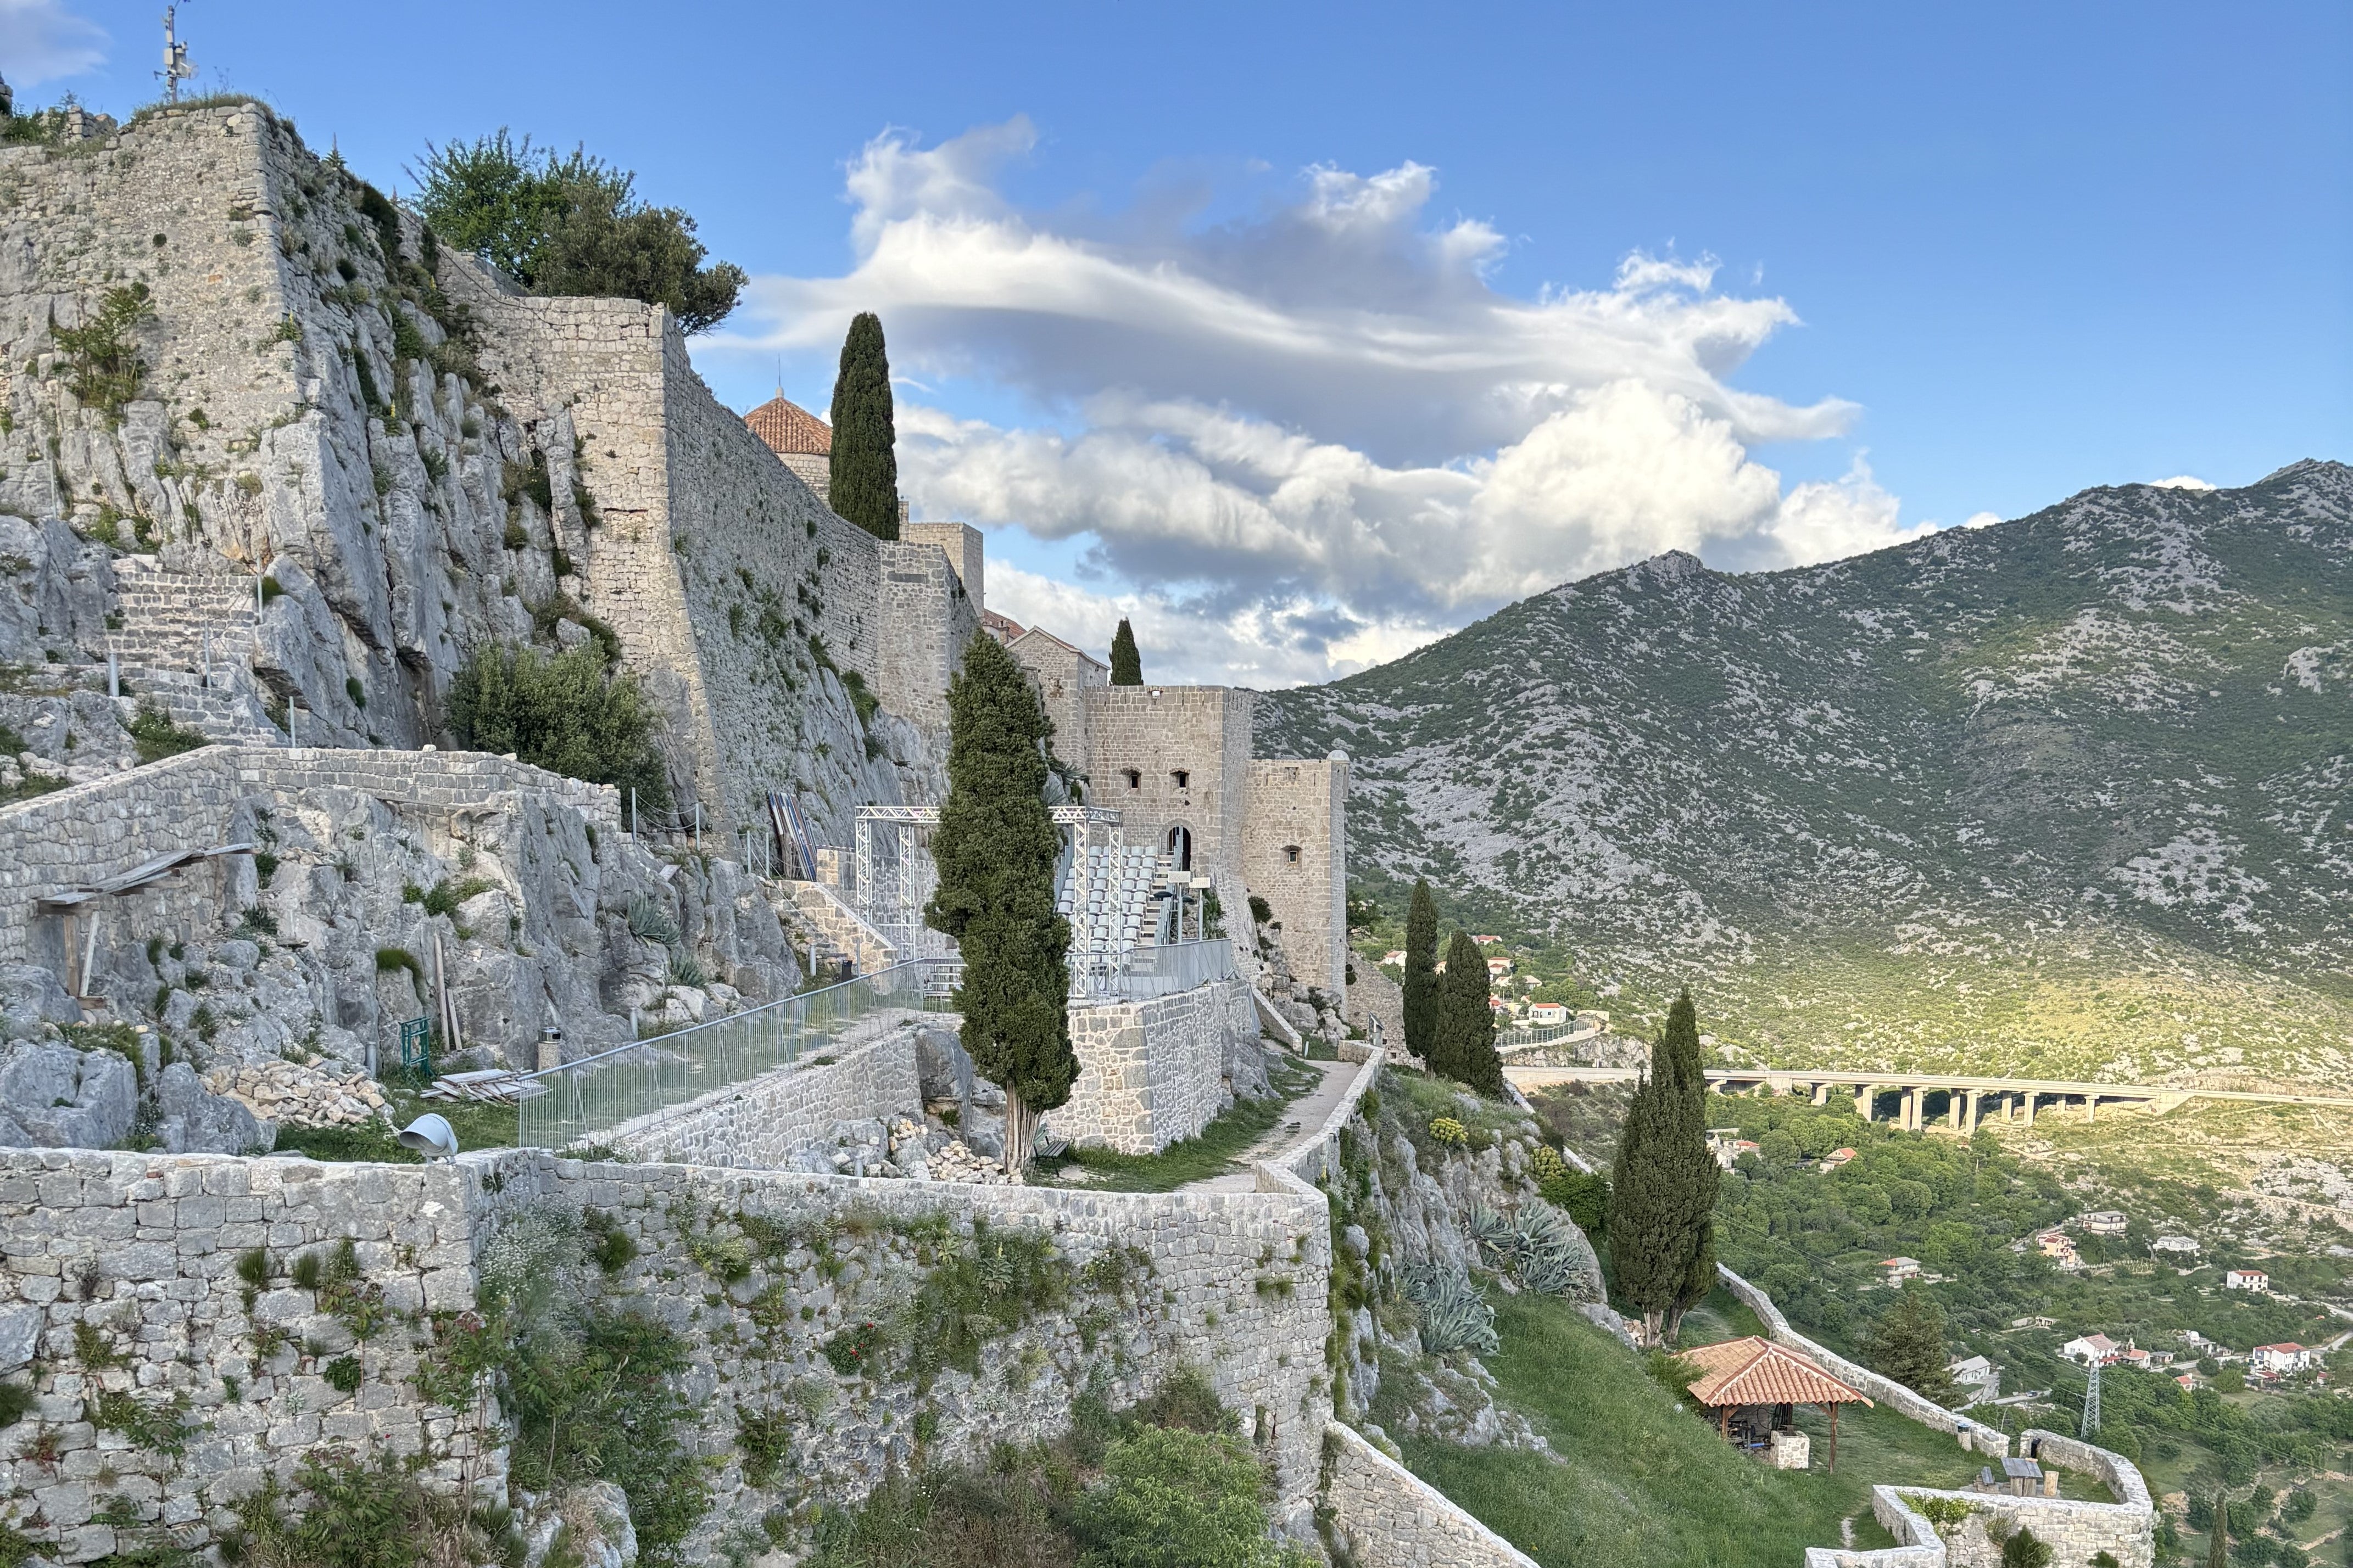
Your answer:
[[[536,649],[475,654],[449,684],[449,726],[468,750],[515,752],[555,773],[635,790],[638,804],[656,811],[671,802],[638,677],[607,672],[591,646],[555,658]]]

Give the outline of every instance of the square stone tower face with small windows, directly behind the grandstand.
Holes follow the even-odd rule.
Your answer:
[[[1087,701],[1089,804],[1120,813],[1129,844],[1193,835],[1193,872],[1245,879],[1249,705],[1235,686],[1096,686]],[[1127,773],[1136,780],[1129,783]],[[1184,783],[1176,783],[1184,773]]]

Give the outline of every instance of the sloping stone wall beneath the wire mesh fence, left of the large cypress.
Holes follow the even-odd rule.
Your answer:
[[[899,1114],[922,1121],[913,1018],[939,1023],[939,1013],[878,1013],[871,1023],[882,1037],[847,1051],[835,1046],[831,1065],[762,1072],[678,1110],[624,1121],[600,1143],[624,1159],[776,1171],[831,1143],[835,1121]]]

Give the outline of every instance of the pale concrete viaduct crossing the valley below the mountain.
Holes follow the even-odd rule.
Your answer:
[[[1631,1084],[1640,1067],[1506,1067],[1504,1077],[1520,1091],[1551,1084]],[[2101,1103],[2134,1110],[2172,1110],[2184,1100],[2252,1100],[2264,1105],[2334,1105],[2353,1110],[2353,1098],[2257,1093],[2240,1088],[2167,1088],[2162,1084],[2085,1084],[2073,1079],[1998,1079],[1972,1072],[1847,1072],[1842,1067],[1708,1067],[1715,1093],[1791,1093],[1809,1091],[1814,1105],[1833,1093],[1854,1093],[1854,1114],[1878,1121],[1882,1095],[1897,1095],[1892,1121],[1920,1131],[1941,1119],[1962,1135],[1981,1124],[2033,1126],[2035,1112],[2082,1110],[2099,1117]],[[1944,1095],[1929,1105],[1929,1095]]]

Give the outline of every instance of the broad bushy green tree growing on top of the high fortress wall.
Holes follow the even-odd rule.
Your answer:
[[[586,148],[560,158],[506,127],[478,141],[426,143],[409,172],[416,209],[440,240],[482,256],[532,294],[593,294],[668,306],[689,336],[718,327],[744,268],[704,266],[694,219],[638,200],[638,176]],[[395,230],[398,233],[398,230]]]

